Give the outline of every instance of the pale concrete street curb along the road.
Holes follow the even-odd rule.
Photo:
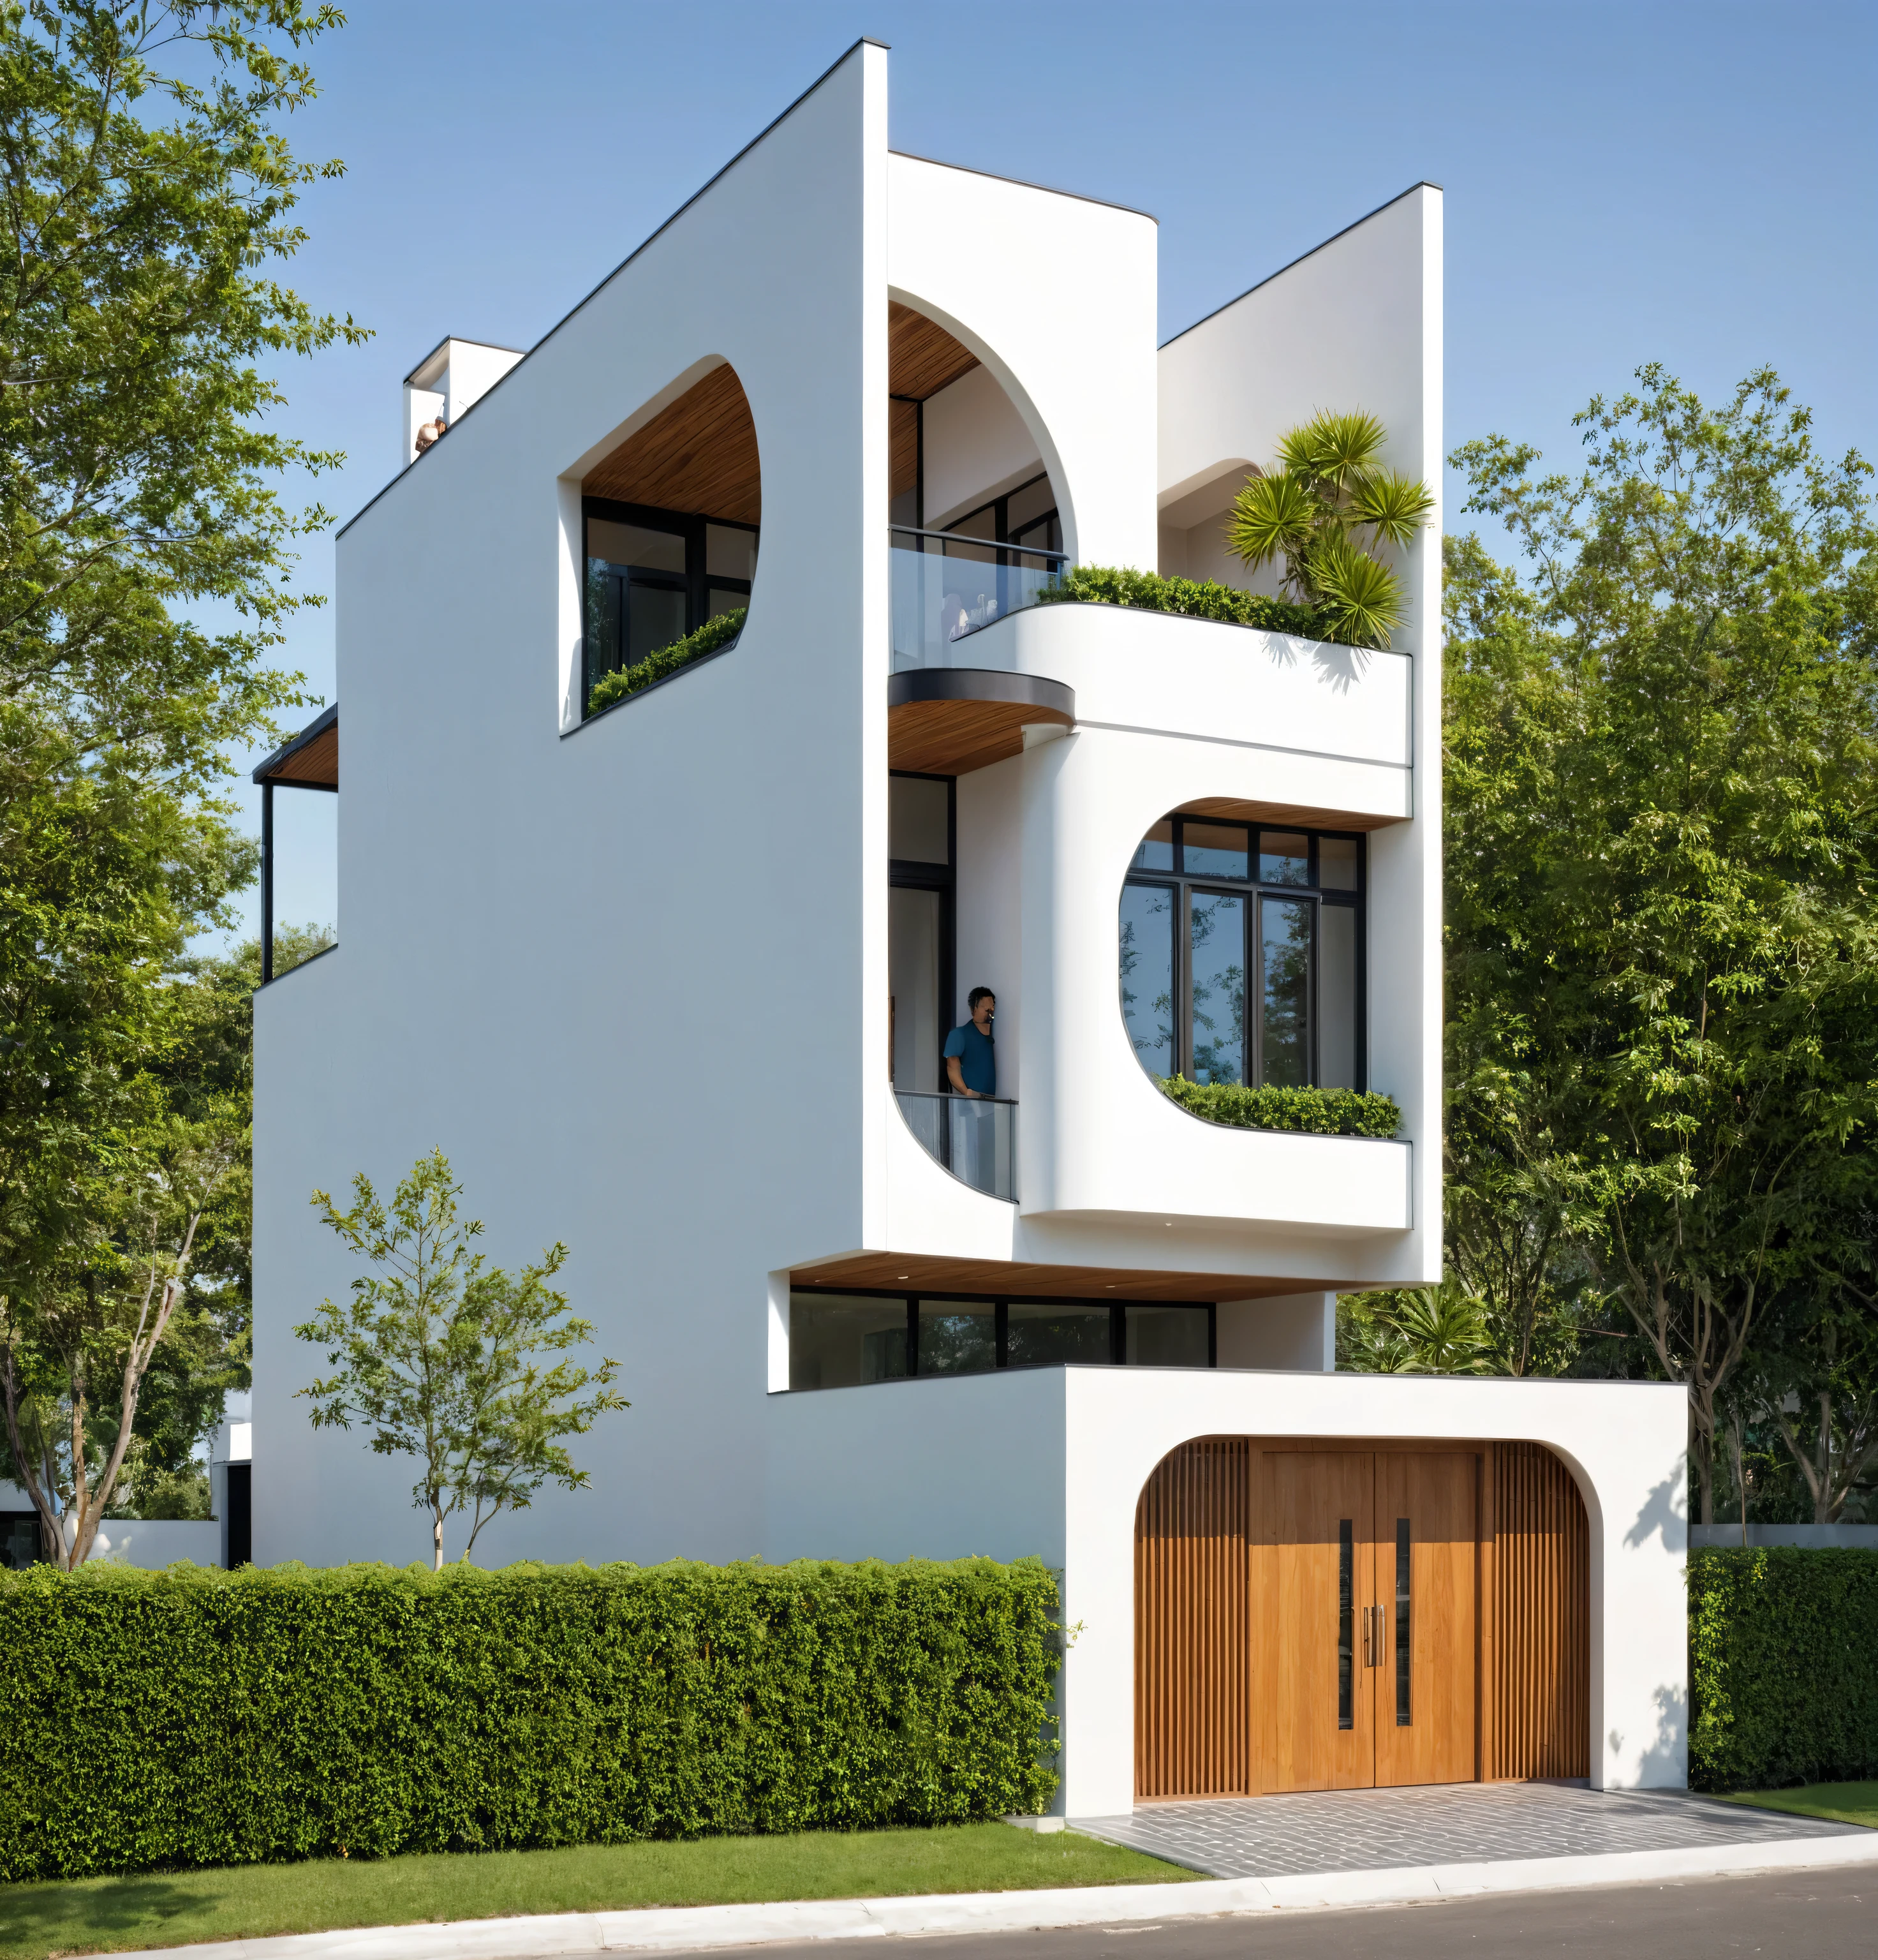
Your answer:
[[[1074,1823],[1070,1825],[1074,1829]],[[543,1913],[423,1927],[288,1933],[265,1940],[163,1946],[176,1960],[557,1960],[594,1952],[702,1952],[800,1940],[914,1938],[945,1933],[1033,1933],[1051,1927],[1162,1925],[1235,1913],[1419,1905],[1498,1891],[1568,1891],[1651,1880],[1741,1878],[1749,1872],[1878,1864],[1878,1831],[1623,1850],[1582,1858],[1504,1858],[1382,1872],[1213,1878],[1192,1886],[1064,1886],[1061,1891],[955,1891],[894,1899],[802,1899],[782,1905],[672,1905],[631,1913]]]

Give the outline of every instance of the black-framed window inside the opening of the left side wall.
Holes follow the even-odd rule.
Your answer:
[[[757,525],[582,498],[586,688],[751,602]]]

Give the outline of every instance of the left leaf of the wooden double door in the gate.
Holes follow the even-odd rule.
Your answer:
[[[1374,1670],[1362,1666],[1374,1464],[1368,1450],[1266,1450],[1257,1503],[1260,1788],[1374,1782]]]

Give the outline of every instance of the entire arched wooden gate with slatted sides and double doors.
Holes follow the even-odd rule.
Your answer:
[[[1537,1443],[1202,1437],[1135,1513],[1135,1791],[1590,1774],[1590,1525]]]

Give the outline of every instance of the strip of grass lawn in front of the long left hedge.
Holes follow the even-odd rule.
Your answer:
[[[0,1886],[0,1960],[510,1913],[1039,1886],[1172,1886],[1194,1876],[1074,1831],[1043,1837],[998,1823],[376,1862],[325,1858]]]

